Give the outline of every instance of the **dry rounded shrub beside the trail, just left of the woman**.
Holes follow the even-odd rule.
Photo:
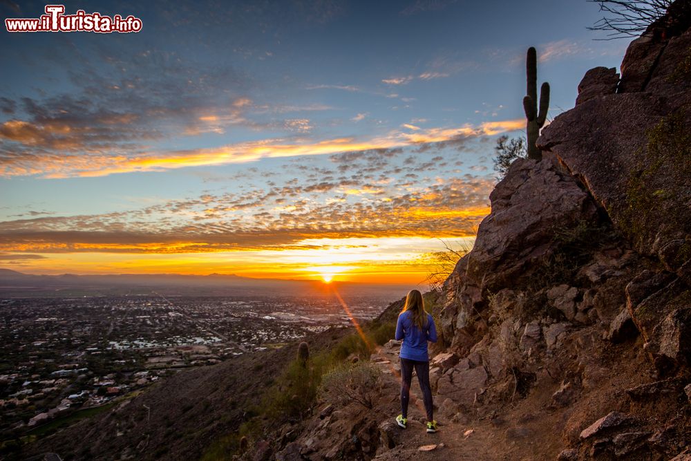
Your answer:
[[[321,379],[319,393],[327,402],[345,406],[356,402],[366,408],[374,406],[379,394],[381,371],[369,361],[341,364]]]

